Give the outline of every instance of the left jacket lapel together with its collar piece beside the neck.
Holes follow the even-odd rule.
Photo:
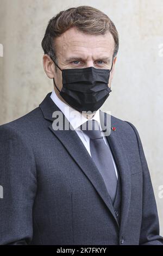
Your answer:
[[[54,121],[52,114],[54,111],[60,111],[60,109],[57,107],[57,105],[54,104],[50,95],[51,93],[46,96],[46,98],[41,102],[39,107],[41,108],[45,119]],[[65,116],[64,118],[68,122]],[[87,152],[85,146],[83,145],[83,142],[80,140],[76,131],[73,130],[71,125],[70,126],[72,130],[54,130],[52,124],[53,123],[51,122],[48,128],[53,132],[54,136],[59,139],[59,141],[71,155],[72,159],[78,164],[80,169],[82,169],[84,174],[90,180],[91,184],[93,185],[93,187],[95,187],[99,196],[101,196],[101,198],[103,199],[104,203],[110,210],[118,225],[115,211],[112,206],[110,196],[108,195],[108,191],[106,189],[102,175],[99,173],[96,164],[92,161],[90,154]]]

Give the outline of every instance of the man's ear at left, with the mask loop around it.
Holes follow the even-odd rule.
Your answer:
[[[48,56],[48,54],[44,54],[42,57],[42,63],[46,75],[52,79],[55,74],[53,60]]]

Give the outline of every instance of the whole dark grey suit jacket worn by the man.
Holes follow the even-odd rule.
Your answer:
[[[122,181],[121,225],[101,174],[76,131],[52,128],[39,107],[0,126],[0,243],[162,245],[151,178],[133,124],[111,116],[107,137]],[[102,113],[102,112],[101,112]]]

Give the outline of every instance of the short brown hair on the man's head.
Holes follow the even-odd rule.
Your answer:
[[[90,7],[79,6],[60,11],[56,16],[49,20],[45,35],[42,40],[42,48],[45,54],[52,57],[56,63],[55,38],[63,34],[71,27],[76,27],[78,31],[92,35],[104,35],[110,32],[115,41],[114,55],[118,52],[118,32],[114,23],[102,11]]]

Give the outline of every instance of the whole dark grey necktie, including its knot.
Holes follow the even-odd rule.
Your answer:
[[[117,188],[117,177],[114,164],[112,162],[110,148],[105,144],[96,120],[86,121],[86,123],[80,126],[80,129],[90,138],[90,152],[92,160],[95,162],[99,172],[101,173],[112,203],[114,203]]]

